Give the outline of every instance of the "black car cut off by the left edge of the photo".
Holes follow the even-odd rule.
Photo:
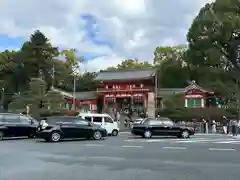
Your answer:
[[[33,138],[39,123],[34,118],[14,113],[0,113],[0,140],[5,137]]]

